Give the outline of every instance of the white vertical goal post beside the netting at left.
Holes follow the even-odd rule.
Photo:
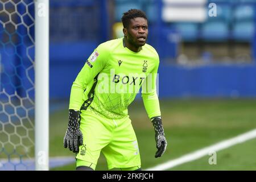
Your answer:
[[[35,0],[35,169],[49,170],[49,0]]]

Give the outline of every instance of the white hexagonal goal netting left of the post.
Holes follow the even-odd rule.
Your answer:
[[[34,169],[34,2],[0,1],[0,170]]]

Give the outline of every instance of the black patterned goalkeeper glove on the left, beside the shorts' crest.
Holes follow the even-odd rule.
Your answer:
[[[68,129],[65,133],[63,146],[69,148],[74,153],[79,152],[79,146],[82,145],[82,133],[80,131],[80,111],[69,109]]]

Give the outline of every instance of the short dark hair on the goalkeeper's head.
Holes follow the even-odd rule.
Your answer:
[[[122,16],[123,27],[127,28],[129,26],[130,19],[134,19],[138,17],[142,17],[147,20],[147,16],[142,10],[130,9],[129,11],[123,13],[123,16]]]

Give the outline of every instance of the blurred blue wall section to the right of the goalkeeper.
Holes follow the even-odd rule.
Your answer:
[[[159,97],[255,97],[255,65],[160,66]]]

